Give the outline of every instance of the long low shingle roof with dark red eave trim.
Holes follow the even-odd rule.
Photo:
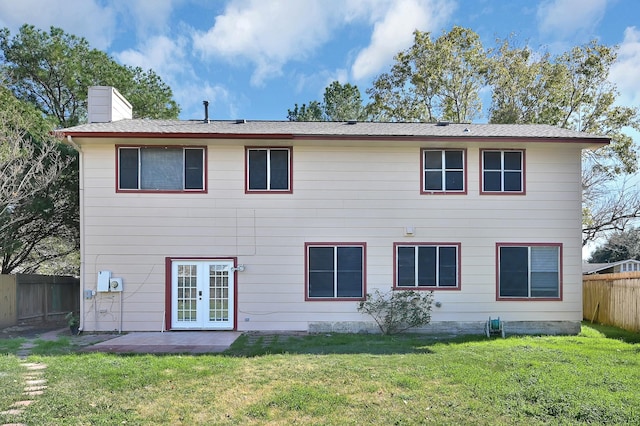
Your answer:
[[[609,138],[540,124],[447,124],[380,122],[120,120],[60,130],[73,137],[435,137],[569,139],[606,144]]]

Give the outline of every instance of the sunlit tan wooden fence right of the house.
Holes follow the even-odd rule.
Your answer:
[[[582,312],[592,322],[640,331],[640,272],[583,275]]]

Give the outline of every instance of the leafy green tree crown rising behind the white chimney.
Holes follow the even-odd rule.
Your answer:
[[[89,87],[97,85],[118,88],[133,106],[134,118],[176,118],[180,113],[171,89],[153,70],[120,65],[60,28],[47,33],[23,25],[14,37],[4,28],[0,50],[15,96],[62,127],[86,120]]]

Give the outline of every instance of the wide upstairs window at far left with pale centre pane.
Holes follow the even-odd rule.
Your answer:
[[[204,191],[204,148],[119,147],[118,190]]]

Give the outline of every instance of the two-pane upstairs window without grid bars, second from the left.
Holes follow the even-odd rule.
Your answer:
[[[291,192],[291,148],[247,148],[246,192]]]

